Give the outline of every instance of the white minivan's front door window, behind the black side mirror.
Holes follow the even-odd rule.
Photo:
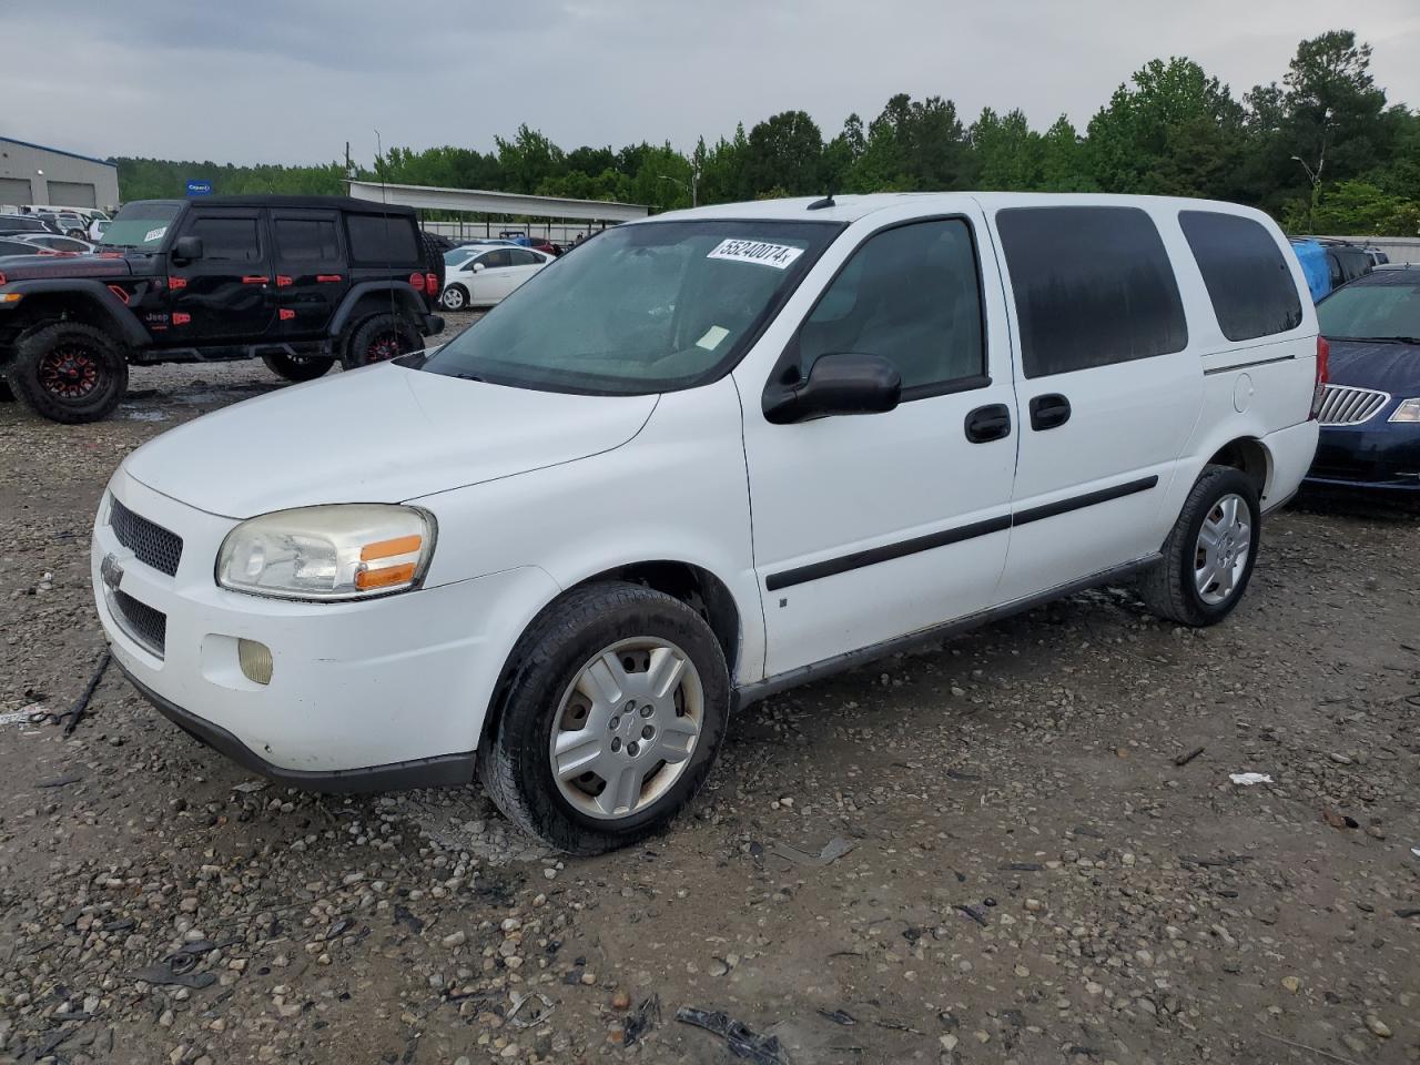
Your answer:
[[[879,355],[903,392],[985,373],[981,288],[971,229],[960,219],[869,237],[799,329],[807,375],[822,355]]]

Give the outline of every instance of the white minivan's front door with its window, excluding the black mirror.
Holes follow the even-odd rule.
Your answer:
[[[895,410],[771,425],[765,379],[737,371],[767,676],[978,612],[1005,564],[1015,393],[1004,298],[981,283],[984,217],[966,199],[949,217],[910,213],[875,216],[838,253],[772,373],[879,355],[902,375]]]

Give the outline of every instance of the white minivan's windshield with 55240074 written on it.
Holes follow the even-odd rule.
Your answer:
[[[703,383],[740,356],[841,229],[714,219],[608,230],[535,274],[423,369],[605,395]]]

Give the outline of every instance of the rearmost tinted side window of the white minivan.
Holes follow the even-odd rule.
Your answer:
[[[1252,219],[1211,210],[1179,213],[1183,236],[1230,341],[1287,332],[1302,324],[1296,283],[1272,234]]]

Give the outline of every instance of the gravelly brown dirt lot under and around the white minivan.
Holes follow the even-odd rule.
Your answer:
[[[0,405],[0,1062],[1420,1061],[1413,517],[1277,517],[1204,633],[1106,589],[777,697],[673,831],[562,862],[476,788],[254,781],[116,670],[14,720],[102,650],[116,463],[274,386]]]

